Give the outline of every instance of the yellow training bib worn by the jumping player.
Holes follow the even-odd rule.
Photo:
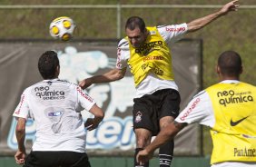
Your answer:
[[[145,44],[134,48],[129,44],[131,57],[128,64],[137,86],[149,73],[163,80],[173,80],[172,56],[168,45],[162,39],[156,27],[147,27],[150,32]]]

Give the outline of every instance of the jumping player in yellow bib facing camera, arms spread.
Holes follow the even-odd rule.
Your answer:
[[[136,95],[133,104],[133,129],[136,135],[136,154],[151,142],[152,136],[172,123],[180,110],[180,94],[172,72],[170,44],[182,34],[197,31],[213,20],[237,10],[239,5],[231,1],[212,15],[206,15],[188,24],[146,27],[141,17],[130,17],[125,25],[126,37],[118,44],[115,69],[102,75],[86,78],[82,88],[92,83],[109,83],[124,77],[129,66],[133,74]],[[171,47],[172,48],[172,47]],[[173,141],[159,150],[160,166],[170,166]],[[145,163],[143,167],[148,167]]]

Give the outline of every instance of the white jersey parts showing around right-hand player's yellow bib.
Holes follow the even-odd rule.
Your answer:
[[[225,80],[222,83],[238,83],[235,80]],[[209,127],[215,124],[215,117],[212,109],[210,96],[205,91],[196,94],[192,101],[175,119],[178,123],[200,123]],[[220,162],[212,164],[212,167],[252,167],[255,162]]]

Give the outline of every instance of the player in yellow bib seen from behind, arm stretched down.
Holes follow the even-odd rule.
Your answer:
[[[138,162],[147,162],[156,148],[187,124],[200,123],[211,128],[212,167],[256,166],[256,87],[239,81],[241,72],[240,55],[222,53],[217,66],[221,83],[195,95],[175,121],[138,153]]]

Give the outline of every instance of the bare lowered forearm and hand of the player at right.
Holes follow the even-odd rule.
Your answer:
[[[162,129],[161,132],[155,137],[153,142],[137,154],[137,162],[140,162],[141,164],[148,162],[153,157],[153,152],[157,148],[159,148],[165,142],[173,139],[176,134],[182,131],[182,128],[186,125],[187,123],[177,123],[174,121]]]

